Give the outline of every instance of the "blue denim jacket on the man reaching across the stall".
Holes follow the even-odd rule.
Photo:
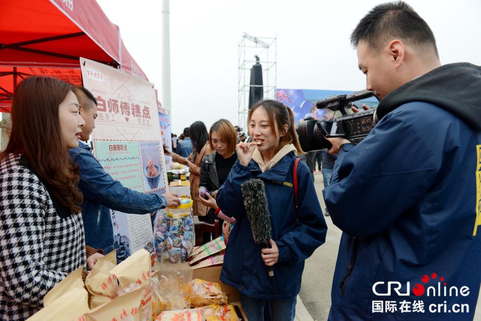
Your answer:
[[[86,245],[102,248],[105,254],[114,249],[109,209],[146,214],[166,206],[163,196],[139,193],[114,180],[84,143],[79,142],[78,148],[69,149],[69,154],[80,166],[79,188],[83,194],[82,219]]]

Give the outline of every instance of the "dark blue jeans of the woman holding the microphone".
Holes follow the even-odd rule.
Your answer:
[[[272,300],[259,299],[240,294],[240,302],[245,316],[249,321],[271,321]],[[297,296],[275,300],[275,321],[293,321],[295,317],[295,303]]]

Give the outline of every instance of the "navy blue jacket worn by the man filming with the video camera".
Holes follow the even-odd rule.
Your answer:
[[[341,148],[323,192],[332,221],[344,232],[328,320],[472,320],[481,280],[481,227],[473,232],[481,209],[480,144],[479,132],[451,112],[408,102],[359,145]],[[374,289],[382,294],[389,281],[400,282],[401,292],[409,282],[409,295],[374,294],[376,282],[385,282]],[[444,291],[444,282],[448,289],[469,287],[469,296],[427,296],[438,283]],[[416,296],[416,284],[426,292]],[[397,312],[373,311],[374,301],[385,309],[389,300]],[[425,312],[401,313],[402,300],[411,309],[422,300]],[[444,313],[444,307],[438,313],[444,301],[447,310],[469,304],[469,313]]]

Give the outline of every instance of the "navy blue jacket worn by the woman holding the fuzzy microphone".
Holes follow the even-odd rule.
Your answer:
[[[254,243],[245,214],[240,191],[243,182],[260,178],[266,186],[272,239],[279,248],[279,261],[273,267],[276,297],[292,298],[299,293],[304,260],[325,241],[327,226],[311,173],[303,162],[297,167],[299,214],[296,222],[295,159],[291,152],[264,173],[255,161],[245,167],[238,160],[217,193],[217,205],[222,212],[237,220],[229,236],[220,279],[246,296],[272,298],[272,285],[261,247]]]

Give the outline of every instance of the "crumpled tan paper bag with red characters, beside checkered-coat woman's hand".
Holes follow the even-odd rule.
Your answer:
[[[110,273],[117,265],[115,250],[101,257],[85,279],[85,287],[91,294],[90,308],[94,309],[117,296],[119,286],[115,275]]]

